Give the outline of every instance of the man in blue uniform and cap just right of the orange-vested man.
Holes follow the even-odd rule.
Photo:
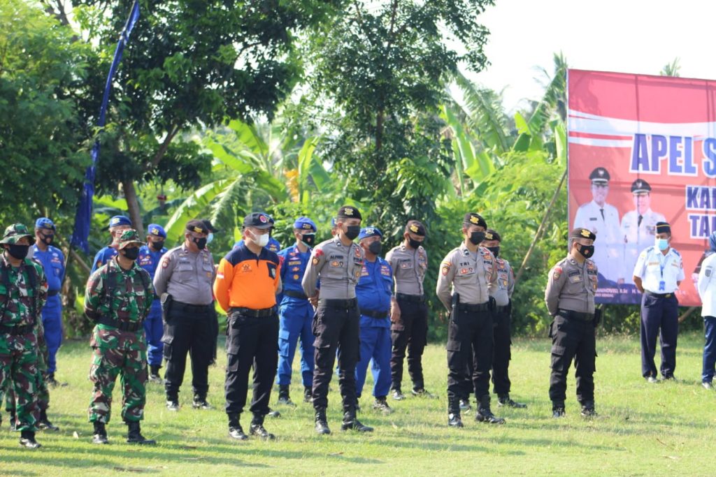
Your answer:
[[[314,335],[311,331],[314,308],[306,297],[301,279],[316,243],[316,223],[309,217],[299,217],[294,222],[296,244],[279,252],[281,282],[279,295],[279,369],[276,384],[279,385],[279,404],[294,405],[289,395],[291,365],[301,338],[301,378],[304,384],[304,402],[311,401],[314,373]],[[270,245],[270,242],[269,242]]]

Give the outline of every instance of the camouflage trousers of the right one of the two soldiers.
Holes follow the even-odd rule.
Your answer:
[[[89,380],[95,383],[89,403],[89,422],[110,422],[112,390],[117,375],[122,385],[122,419],[144,418],[147,383],[147,343],[144,330],[120,331],[95,326],[92,331],[92,367]]]

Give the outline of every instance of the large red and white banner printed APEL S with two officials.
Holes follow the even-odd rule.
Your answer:
[[[569,224],[596,233],[597,303],[639,303],[639,252],[669,222],[683,257],[681,305],[716,230],[716,82],[568,72]]]

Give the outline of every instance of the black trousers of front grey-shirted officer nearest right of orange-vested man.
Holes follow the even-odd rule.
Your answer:
[[[355,368],[360,355],[360,314],[357,306],[334,308],[319,304],[314,317],[314,408],[328,407],[328,385],[338,351],[339,387],[343,410],[354,410],[356,405]]]

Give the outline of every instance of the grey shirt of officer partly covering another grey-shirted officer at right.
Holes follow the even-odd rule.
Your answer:
[[[445,308],[452,308],[453,292],[460,295],[460,303],[486,303],[490,291],[497,287],[495,257],[485,247],[470,252],[465,242],[442,259],[435,292]],[[452,286],[452,292],[450,290]]]

